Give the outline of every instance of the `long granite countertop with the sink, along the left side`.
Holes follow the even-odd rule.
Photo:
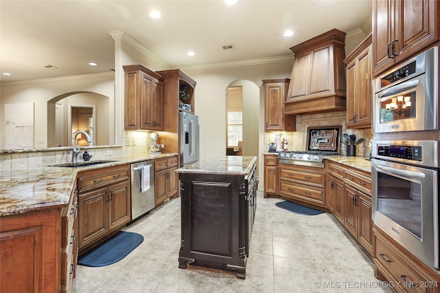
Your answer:
[[[65,206],[69,202],[76,174],[80,171],[100,169],[118,164],[166,158],[176,153],[150,155],[122,155],[112,157],[114,162],[63,168],[34,166],[0,171],[0,216],[29,213]],[[91,160],[93,162],[93,160]]]

